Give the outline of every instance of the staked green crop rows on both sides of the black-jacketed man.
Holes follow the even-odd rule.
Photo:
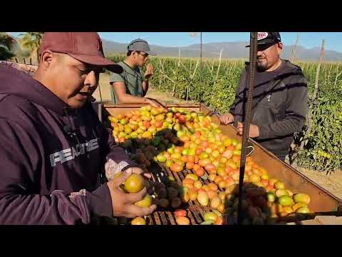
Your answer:
[[[122,61],[125,56],[112,56]],[[229,111],[234,101],[244,61],[177,59],[152,57],[155,68],[150,84],[179,99],[202,102],[221,114]],[[308,124],[296,133],[296,164],[317,171],[337,171],[342,166],[342,64],[322,64],[318,76],[318,97],[312,101],[318,64],[299,62],[309,87],[312,111],[311,132]],[[197,66],[197,68],[196,68]],[[304,148],[299,146],[304,141]]]

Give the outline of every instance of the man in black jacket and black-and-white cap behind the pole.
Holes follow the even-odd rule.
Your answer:
[[[308,87],[301,68],[280,58],[282,49],[279,32],[258,32],[249,137],[284,161],[294,133],[304,126],[308,113]],[[249,63],[246,63],[234,103],[229,113],[220,117],[224,124],[235,121],[240,134],[246,115],[248,75]]]

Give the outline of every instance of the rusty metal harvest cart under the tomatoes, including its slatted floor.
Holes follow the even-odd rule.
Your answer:
[[[96,103],[95,109],[98,111],[100,121],[106,121],[108,116],[117,116],[118,114],[126,114],[129,111],[137,110],[143,104],[110,104],[110,103]],[[172,104],[167,107],[177,107],[182,109],[188,109],[190,111],[202,111],[205,115],[212,116],[214,122],[219,123],[219,119],[214,115],[214,111],[209,109],[203,104]],[[230,138],[236,138],[241,141],[242,137],[237,135],[237,130],[234,126],[223,126],[220,125],[223,133]],[[267,151],[265,148],[259,145],[256,141],[249,139],[249,143],[254,146],[254,151],[251,157],[256,163],[261,163],[264,168],[269,172],[270,176],[278,178],[285,183],[286,188],[293,192],[307,193],[311,196],[311,203],[309,208],[315,213],[320,215],[334,215],[338,216],[338,207],[342,205],[342,200],[333,196],[331,193],[326,191],[324,188],[319,186],[311,179],[304,176],[295,168],[291,167],[284,161],[280,161],[274,154]],[[163,182],[167,176],[172,176],[179,183],[182,183],[182,179],[185,178],[187,173],[191,171],[183,170],[179,173],[170,171],[170,168],[162,165],[161,163],[153,163],[150,167],[152,173],[152,180]],[[202,180],[202,178],[201,178]],[[202,183],[209,183],[208,180],[202,180]],[[192,224],[198,224],[204,221],[204,213],[209,211],[208,207],[201,206],[197,201],[190,201],[187,206],[187,216],[190,218]],[[159,208],[158,208],[159,209]],[[312,217],[314,218],[314,217]],[[152,215],[148,216],[147,224],[156,225],[173,225],[175,223],[175,217],[173,216],[171,209],[165,209],[156,211]]]

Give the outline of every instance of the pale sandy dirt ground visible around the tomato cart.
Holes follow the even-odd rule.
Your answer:
[[[110,101],[110,84],[108,74],[100,75],[99,87],[93,95],[98,101],[100,101],[100,92],[103,101]],[[167,104],[185,103],[185,101],[180,101],[179,99],[175,99],[165,92],[160,92],[152,88],[150,88],[147,92],[147,96],[158,99]],[[305,176],[309,177],[311,180],[315,181],[319,185],[323,186],[323,188],[326,188],[326,190],[333,195],[342,199],[342,171],[326,175],[325,172],[310,171],[302,168],[297,168],[297,170],[299,170],[301,173],[303,173]]]

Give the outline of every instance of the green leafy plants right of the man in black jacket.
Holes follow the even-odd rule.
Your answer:
[[[341,64],[323,64],[318,76],[318,97],[312,99],[318,64],[304,64],[309,86],[311,131],[306,124],[296,133],[296,163],[304,168],[329,173],[342,167],[342,80]],[[304,141],[304,148],[299,144]]]

